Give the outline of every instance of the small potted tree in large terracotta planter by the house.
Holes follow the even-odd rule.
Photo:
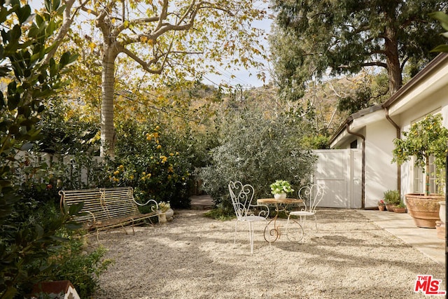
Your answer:
[[[393,141],[395,148],[392,162],[402,164],[415,156],[414,165],[421,167],[423,173],[426,174],[425,193],[405,195],[407,211],[414,218],[416,226],[435,228],[435,221],[439,220],[439,202],[444,200],[444,196],[429,193],[429,158],[434,157],[437,169],[444,168],[448,129],[442,126],[442,116],[427,116],[418,123],[412,124],[408,132],[403,132],[403,137]],[[440,172],[438,174],[437,181],[441,184],[443,176]]]

